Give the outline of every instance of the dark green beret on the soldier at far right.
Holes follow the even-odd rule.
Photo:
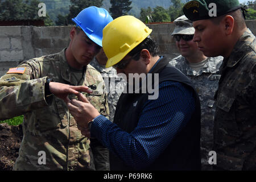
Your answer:
[[[240,8],[238,0],[195,0],[184,5],[183,13],[189,20],[196,21],[225,15]]]

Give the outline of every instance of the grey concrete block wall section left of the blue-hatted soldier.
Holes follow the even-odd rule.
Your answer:
[[[24,60],[56,53],[67,47],[71,28],[0,27],[0,77]]]

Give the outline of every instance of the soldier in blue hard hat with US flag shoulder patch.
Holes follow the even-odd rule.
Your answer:
[[[0,120],[24,115],[14,170],[109,169],[108,150],[81,134],[60,98],[69,100],[68,93],[78,90],[109,116],[104,80],[89,63],[101,49],[103,28],[113,18],[105,9],[91,6],[72,20],[76,26],[67,48],[24,61],[0,79]]]

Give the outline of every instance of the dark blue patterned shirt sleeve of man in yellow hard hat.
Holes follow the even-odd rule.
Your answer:
[[[159,84],[158,99],[144,104],[138,125],[131,133],[103,115],[94,119],[90,132],[127,166],[142,169],[162,154],[191,119],[193,111],[193,92],[180,82],[165,81]]]

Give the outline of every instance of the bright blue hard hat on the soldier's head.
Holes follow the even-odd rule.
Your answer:
[[[104,8],[90,6],[82,10],[76,18],[72,18],[76,26],[79,26],[85,34],[102,47],[103,28],[113,20],[109,12]]]

